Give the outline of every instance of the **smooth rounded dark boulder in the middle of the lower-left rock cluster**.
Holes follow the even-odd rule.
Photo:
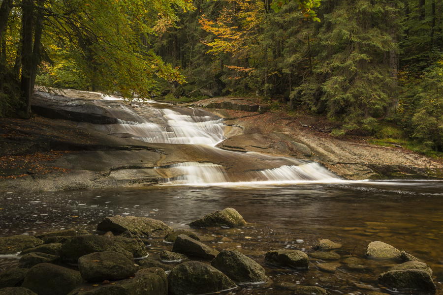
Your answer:
[[[135,273],[134,262],[114,252],[95,252],[78,259],[78,269],[88,282],[122,280]]]

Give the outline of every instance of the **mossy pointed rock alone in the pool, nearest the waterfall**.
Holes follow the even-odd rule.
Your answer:
[[[226,226],[239,227],[246,224],[243,217],[234,208],[225,208],[214,211],[201,219],[195,220],[189,224],[190,227],[211,227]]]

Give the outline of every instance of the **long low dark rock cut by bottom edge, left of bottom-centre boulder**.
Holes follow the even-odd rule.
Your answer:
[[[77,287],[69,295],[166,295],[164,282],[160,276],[150,272],[137,272],[134,277],[112,282],[112,284],[92,284]]]

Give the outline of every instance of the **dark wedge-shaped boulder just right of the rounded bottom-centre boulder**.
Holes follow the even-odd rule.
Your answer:
[[[271,282],[262,266],[235,250],[221,251],[211,262],[211,266],[220,270],[238,285]]]

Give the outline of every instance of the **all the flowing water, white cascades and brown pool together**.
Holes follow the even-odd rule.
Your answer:
[[[128,112],[124,108],[115,111],[117,118],[119,112]],[[128,120],[126,113],[126,120],[106,129],[109,134],[148,142],[215,146],[224,139],[219,119],[193,118],[167,108],[156,112],[158,116],[149,120],[131,111],[132,119]],[[237,154],[217,152],[222,156]],[[68,228],[94,233],[104,217],[117,214],[146,216],[175,230],[189,229],[191,221],[233,207],[247,226],[195,230],[219,251],[238,249],[265,265],[268,250],[294,249],[309,254],[319,239],[331,239],[343,246],[335,250],[340,259],[310,258],[309,270],[265,265],[273,285],[243,288],[232,294],[285,295],[305,285],[320,286],[331,294],[399,294],[376,281],[378,274],[395,263],[364,259],[367,244],[376,240],[431,266],[437,294],[443,294],[443,181],[347,181],[314,162],[254,153],[237,156],[270,161],[271,168],[253,171],[246,181],[229,175],[220,165],[187,162],[158,168],[178,170],[175,175],[179,176],[163,178],[162,185],[156,187],[3,193],[0,235],[34,235]],[[150,258],[171,248],[162,239],[152,239]],[[349,263],[351,256],[359,259],[358,269]],[[325,263],[336,264],[337,270],[325,272],[321,268]],[[16,257],[0,257],[0,269],[15,264]]]

